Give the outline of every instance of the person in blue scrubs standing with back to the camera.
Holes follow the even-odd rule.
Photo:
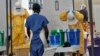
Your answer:
[[[30,30],[33,33],[30,44],[30,56],[43,56],[44,45],[39,35],[41,30],[44,29],[45,37],[48,42],[49,31],[47,24],[49,22],[45,16],[39,14],[41,10],[39,4],[34,3],[32,10],[34,11],[34,14],[29,16],[25,23],[28,36],[30,37]]]

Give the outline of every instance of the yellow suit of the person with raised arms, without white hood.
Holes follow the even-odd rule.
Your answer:
[[[78,11],[74,11],[74,19],[77,19],[76,24],[68,25],[70,29],[80,29],[80,54],[84,54],[84,29],[82,26],[84,16]],[[61,12],[60,19],[62,21],[68,21],[68,13],[66,11]]]

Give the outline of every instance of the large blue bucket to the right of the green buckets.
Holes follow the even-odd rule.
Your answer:
[[[71,45],[79,45],[80,30],[79,29],[67,29],[67,42]]]

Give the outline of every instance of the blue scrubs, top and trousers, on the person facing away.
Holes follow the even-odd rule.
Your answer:
[[[44,52],[44,45],[40,39],[40,32],[43,27],[47,26],[48,20],[45,16],[33,14],[26,20],[25,26],[32,30],[33,36],[30,46],[30,56],[42,56]]]

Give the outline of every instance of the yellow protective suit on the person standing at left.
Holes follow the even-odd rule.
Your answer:
[[[13,48],[25,44],[24,20],[29,16],[26,9],[22,12],[12,11],[12,46]],[[8,19],[8,22],[10,20]]]

